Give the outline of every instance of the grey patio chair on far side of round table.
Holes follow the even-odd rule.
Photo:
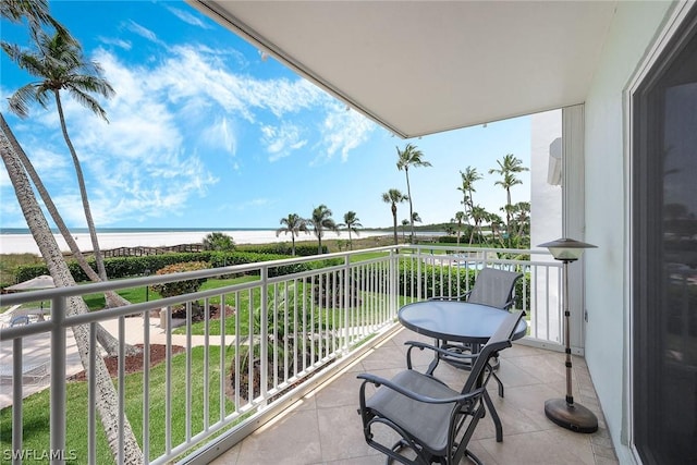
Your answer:
[[[509,310],[515,304],[515,283],[523,278],[523,273],[513,271],[500,270],[497,268],[484,268],[477,274],[475,285],[466,292],[453,297],[439,296],[432,297],[435,301],[464,301],[470,304],[488,305],[490,307],[501,308],[502,310]],[[441,348],[445,348],[455,354],[469,353],[476,354],[479,351],[477,345],[453,343],[450,341],[440,341]],[[443,356],[442,360],[463,369],[469,369],[470,363],[468,359],[460,359],[458,357]],[[492,362],[494,369],[499,368],[499,359]],[[493,374],[493,378],[499,384],[499,396],[503,397],[503,383]]]

